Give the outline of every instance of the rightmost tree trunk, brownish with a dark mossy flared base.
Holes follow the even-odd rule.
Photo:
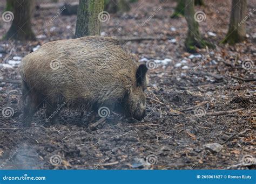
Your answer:
[[[246,39],[245,19],[247,10],[246,0],[232,0],[230,26],[223,43],[235,44]]]

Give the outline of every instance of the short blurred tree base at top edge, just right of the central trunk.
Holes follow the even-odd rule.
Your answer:
[[[127,0],[104,0],[104,10],[109,13],[126,12],[130,10]]]

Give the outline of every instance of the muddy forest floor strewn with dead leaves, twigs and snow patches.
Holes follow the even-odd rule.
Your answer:
[[[185,18],[170,18],[174,1],[139,1],[131,4],[129,12],[110,14],[103,23],[103,36],[171,37],[125,44],[140,60],[158,63],[148,73],[145,121],[112,113],[95,129],[88,129],[87,115],[80,119],[78,112],[63,110],[59,124],[45,127],[42,109],[31,127],[22,128],[21,86],[0,82],[0,109],[6,111],[5,117],[2,112],[0,116],[0,168],[255,169],[244,162],[256,153],[256,16],[247,19],[247,41],[219,44],[228,29],[231,1],[205,0],[205,4],[196,6],[206,15],[199,23],[200,32],[217,47],[194,54],[184,49]],[[1,2],[1,15],[4,6]],[[255,7],[256,1],[250,1],[248,12]],[[32,26],[37,41],[0,41],[1,80],[21,80],[17,64],[33,48],[73,38],[76,16],[60,15],[51,21],[56,13],[54,7],[35,10]],[[0,20],[2,36],[11,23]],[[212,143],[215,148],[207,145]]]

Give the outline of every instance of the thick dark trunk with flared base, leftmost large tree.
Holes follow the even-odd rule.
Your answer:
[[[31,29],[31,15],[34,3],[31,0],[14,1],[14,20],[4,39],[35,40]]]

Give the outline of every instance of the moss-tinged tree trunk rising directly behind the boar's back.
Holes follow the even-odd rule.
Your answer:
[[[79,0],[76,24],[76,38],[100,35],[104,0]]]

